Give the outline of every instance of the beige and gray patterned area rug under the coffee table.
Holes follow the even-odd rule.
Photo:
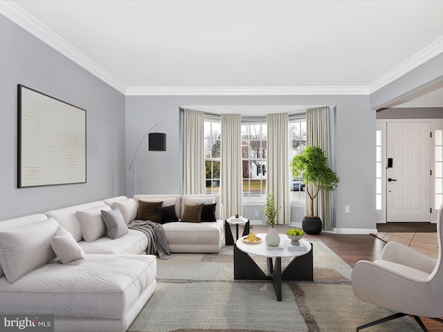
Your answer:
[[[219,254],[178,254],[157,260],[157,288],[129,332],[346,332],[391,312],[357,299],[352,268],[319,240],[314,282],[283,282],[282,302],[271,282],[233,279],[233,247]],[[253,257],[264,270],[266,260]],[[282,259],[282,265],[288,261]],[[365,331],[419,332],[408,317]]]

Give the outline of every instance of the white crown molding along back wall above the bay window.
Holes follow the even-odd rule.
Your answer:
[[[367,86],[128,86],[125,95],[368,95]]]

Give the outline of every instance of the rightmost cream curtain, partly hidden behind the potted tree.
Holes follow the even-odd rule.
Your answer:
[[[306,131],[307,145],[316,145],[325,151],[329,167],[329,107],[318,107],[316,109],[307,109],[306,111]],[[309,188],[310,190],[310,188]],[[309,214],[311,201],[306,195],[305,214]],[[324,230],[332,230],[332,192],[320,190],[316,199],[314,199],[314,213],[323,221]]]

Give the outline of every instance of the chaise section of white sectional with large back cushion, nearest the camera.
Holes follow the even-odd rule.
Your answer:
[[[52,314],[55,331],[126,331],[154,293],[156,257],[85,254],[62,264],[51,248],[58,226],[45,214],[0,222],[0,313]]]

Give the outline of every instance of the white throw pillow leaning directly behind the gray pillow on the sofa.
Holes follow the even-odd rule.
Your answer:
[[[99,208],[75,212],[84,241],[96,241],[106,234],[106,225],[102,221],[102,210],[111,211],[111,208],[109,205],[102,205]]]

